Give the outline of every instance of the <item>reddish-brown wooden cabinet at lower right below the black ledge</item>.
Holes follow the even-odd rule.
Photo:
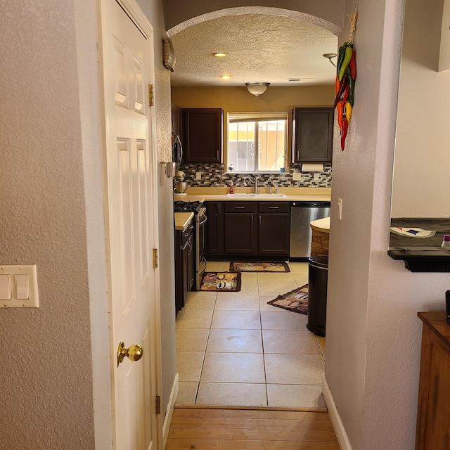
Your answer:
[[[450,325],[444,312],[420,312],[422,352],[416,450],[449,449]]]

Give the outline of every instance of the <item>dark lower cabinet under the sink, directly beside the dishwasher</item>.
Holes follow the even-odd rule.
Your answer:
[[[289,255],[289,203],[258,203],[258,254]]]

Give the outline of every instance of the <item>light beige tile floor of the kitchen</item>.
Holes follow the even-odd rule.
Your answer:
[[[267,304],[308,282],[307,263],[289,265],[285,274],[243,273],[238,293],[189,294],[176,318],[176,403],[325,407],[325,338],[307,330],[307,316]]]

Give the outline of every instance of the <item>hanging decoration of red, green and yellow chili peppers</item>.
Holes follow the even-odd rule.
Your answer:
[[[336,65],[335,83],[335,105],[338,113],[338,124],[340,128],[340,148],[344,151],[345,139],[350,119],[352,118],[354,103],[354,85],[356,81],[356,50],[354,49],[353,37],[356,31],[356,19],[358,18],[358,0],[354,6],[354,13],[349,14],[350,34],[349,40],[340,46],[338,53],[338,64]]]

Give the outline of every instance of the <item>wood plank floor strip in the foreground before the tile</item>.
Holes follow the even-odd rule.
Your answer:
[[[166,450],[339,450],[326,412],[176,407]]]

